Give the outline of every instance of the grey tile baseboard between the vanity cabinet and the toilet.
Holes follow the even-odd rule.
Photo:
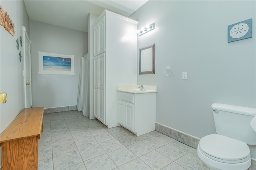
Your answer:
[[[199,138],[188,135],[184,132],[178,131],[176,129],[172,129],[168,126],[162,125],[160,123],[156,123],[156,131],[175,139],[181,143],[184,143],[194,149],[197,149],[197,145],[199,143]]]

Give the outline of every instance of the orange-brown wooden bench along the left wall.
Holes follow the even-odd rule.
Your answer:
[[[37,170],[44,107],[23,109],[0,135],[1,170]]]

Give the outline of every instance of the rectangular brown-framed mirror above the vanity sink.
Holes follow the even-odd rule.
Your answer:
[[[139,49],[139,74],[155,74],[155,44]]]

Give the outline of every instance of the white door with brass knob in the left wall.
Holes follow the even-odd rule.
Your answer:
[[[23,27],[25,108],[32,107],[30,44],[26,28]]]

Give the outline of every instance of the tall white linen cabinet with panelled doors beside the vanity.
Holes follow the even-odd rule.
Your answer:
[[[138,21],[105,10],[93,26],[94,117],[118,124],[117,84],[137,82]]]

